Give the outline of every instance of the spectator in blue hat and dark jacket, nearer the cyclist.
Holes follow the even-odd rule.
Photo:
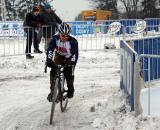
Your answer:
[[[55,34],[57,24],[61,24],[62,20],[57,16],[55,10],[51,9],[51,6],[48,3],[44,4],[42,10],[43,37],[45,38],[45,49],[47,49],[52,36]]]

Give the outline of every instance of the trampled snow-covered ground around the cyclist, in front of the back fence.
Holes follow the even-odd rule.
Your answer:
[[[0,130],[160,130],[160,118],[134,116],[120,90],[119,49],[80,51],[67,111],[51,104],[45,55],[0,58]]]

